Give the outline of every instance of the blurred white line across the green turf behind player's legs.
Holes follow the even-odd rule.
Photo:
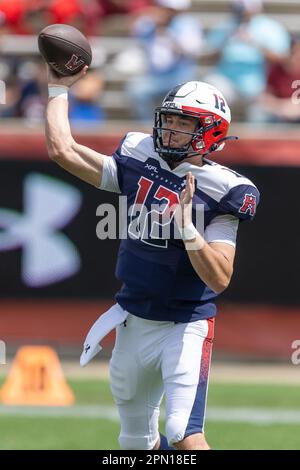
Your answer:
[[[109,405],[74,405],[70,407],[6,406],[0,405],[0,416],[27,418],[81,418],[106,419],[118,422],[116,407]],[[164,418],[162,410],[161,417]],[[252,423],[252,424],[300,424],[299,410],[270,408],[222,408],[211,407],[207,410],[207,421]]]

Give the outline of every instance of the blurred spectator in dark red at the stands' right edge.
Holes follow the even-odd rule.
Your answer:
[[[249,111],[256,122],[300,123],[300,39],[293,39],[289,56],[272,64],[266,91]]]

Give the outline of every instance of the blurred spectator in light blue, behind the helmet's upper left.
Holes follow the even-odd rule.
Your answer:
[[[202,44],[201,26],[183,13],[190,0],[156,0],[156,8],[141,16],[133,35],[143,47],[144,72],[128,86],[130,108],[140,120],[152,120],[152,109],[178,83],[197,78],[196,60]]]

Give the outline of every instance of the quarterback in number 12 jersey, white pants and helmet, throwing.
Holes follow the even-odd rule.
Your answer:
[[[126,196],[133,208],[116,266],[122,287],[104,314],[119,318],[110,361],[119,443],[122,449],[209,449],[204,421],[215,300],[230,282],[238,225],[254,217],[259,192],[207,158],[230,138],[231,120],[224,96],[207,83],[170,90],[155,110],[153,134],[129,132],[112,156],[77,143],[68,87],[85,72],[57,78],[49,71],[46,138],[51,159],[96,188]],[[173,228],[168,237],[166,220]],[[158,431],[164,396],[166,437]]]

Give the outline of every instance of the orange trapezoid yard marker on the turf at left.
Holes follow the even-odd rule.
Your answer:
[[[17,352],[10,373],[0,391],[7,405],[72,405],[74,395],[54,349],[23,346]]]

